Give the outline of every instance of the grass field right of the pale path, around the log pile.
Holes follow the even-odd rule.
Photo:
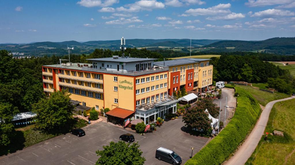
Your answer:
[[[280,130],[285,136],[269,135],[270,142],[265,142],[263,135],[246,164],[295,164],[294,105],[295,99],[291,99],[273,106],[265,132],[273,133],[273,130]]]

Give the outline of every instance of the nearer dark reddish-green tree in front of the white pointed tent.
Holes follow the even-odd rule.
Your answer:
[[[205,133],[211,132],[212,119],[209,119],[209,114],[202,107],[194,106],[186,110],[182,121],[186,127],[195,128]]]

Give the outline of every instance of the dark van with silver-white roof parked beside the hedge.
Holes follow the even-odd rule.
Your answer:
[[[181,157],[178,156],[174,151],[171,151],[170,149],[166,149],[163,147],[160,147],[156,150],[156,158],[158,160],[167,161],[168,163],[171,163],[173,165],[181,164],[182,160]]]

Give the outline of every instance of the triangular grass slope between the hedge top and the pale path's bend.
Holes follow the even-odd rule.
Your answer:
[[[244,86],[244,85],[238,85],[238,86],[249,91],[253,95],[253,97],[256,98],[256,100],[259,102],[259,104],[261,104],[263,106],[266,106],[266,104],[268,102],[271,102],[273,100],[278,100],[278,99],[290,97],[290,95],[287,95],[285,93],[274,92],[272,94],[270,92],[265,92],[263,90],[255,89],[250,86]]]

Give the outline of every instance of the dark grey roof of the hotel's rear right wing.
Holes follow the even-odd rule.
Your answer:
[[[182,64],[190,64],[190,63],[197,63],[201,61],[207,61],[210,59],[202,59],[202,58],[180,58],[175,60],[167,60],[165,61],[165,66],[175,66],[175,65],[182,65]],[[154,62],[156,66],[164,66],[164,61]]]

